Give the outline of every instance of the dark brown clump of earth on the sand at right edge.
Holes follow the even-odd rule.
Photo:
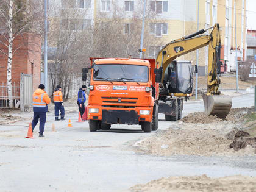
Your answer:
[[[256,137],[250,137],[250,134],[243,130],[236,131],[233,136],[233,142],[229,145],[229,148],[233,148],[235,151],[244,149],[247,146],[255,148],[256,152]]]

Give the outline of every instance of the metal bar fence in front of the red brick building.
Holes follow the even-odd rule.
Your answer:
[[[7,82],[0,84],[0,108],[18,108],[20,105],[20,82],[12,83],[12,106],[9,107]]]

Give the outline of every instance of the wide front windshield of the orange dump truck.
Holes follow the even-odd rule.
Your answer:
[[[148,66],[124,64],[94,65],[93,80],[148,82]]]

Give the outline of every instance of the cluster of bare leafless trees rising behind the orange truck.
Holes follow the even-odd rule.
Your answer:
[[[70,1],[70,2],[69,2]],[[98,12],[94,23],[87,17],[87,10],[76,9],[72,0],[61,9],[55,9],[55,18],[50,24],[49,41],[56,51],[49,65],[52,88],[62,84],[63,96],[69,97],[74,77],[81,78],[82,68],[90,65],[89,57],[138,58],[141,39],[141,12],[127,15],[123,7],[113,2],[112,12]],[[143,4],[140,5],[143,10]],[[58,15],[59,14],[59,15]],[[146,26],[154,19],[147,12]],[[84,20],[83,27],[80,25]],[[145,27],[144,48],[159,43],[159,38],[149,35]]]

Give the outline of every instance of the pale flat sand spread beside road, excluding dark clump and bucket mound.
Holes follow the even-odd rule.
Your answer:
[[[135,151],[151,155],[256,155],[250,144],[236,151],[227,122],[222,124],[179,124],[155,136],[133,143]]]

